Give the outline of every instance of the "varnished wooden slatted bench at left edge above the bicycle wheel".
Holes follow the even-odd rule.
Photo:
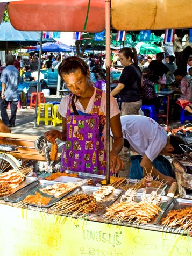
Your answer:
[[[16,159],[46,161],[44,153],[35,149],[34,141],[38,136],[0,132],[0,144],[16,145],[17,151],[10,151]]]

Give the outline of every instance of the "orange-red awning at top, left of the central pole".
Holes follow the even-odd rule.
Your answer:
[[[13,27],[23,31],[101,32],[105,0],[24,0],[8,5]]]

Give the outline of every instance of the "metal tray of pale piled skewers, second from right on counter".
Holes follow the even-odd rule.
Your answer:
[[[136,197],[134,198],[134,202],[140,202],[142,196],[143,196],[143,193],[137,193]],[[150,197],[150,194],[146,194],[146,196]],[[166,209],[169,207],[170,203],[172,203],[172,201],[173,201],[172,197],[161,196],[161,201],[159,202],[158,207],[161,208],[162,212],[159,212],[159,215],[155,216],[151,222],[142,223],[142,224],[144,224],[144,225],[157,225],[158,222],[160,221],[162,215],[164,214]],[[120,202],[120,197],[118,198],[116,203],[119,203],[119,202]],[[123,222],[132,223],[132,222],[129,222],[129,221],[123,221]],[[133,219],[133,222],[134,222],[134,219]]]

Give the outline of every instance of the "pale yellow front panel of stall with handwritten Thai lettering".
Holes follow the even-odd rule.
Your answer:
[[[0,204],[0,255],[187,256],[192,238]]]

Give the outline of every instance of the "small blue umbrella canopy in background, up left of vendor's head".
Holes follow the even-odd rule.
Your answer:
[[[40,46],[37,46],[35,51],[39,51]],[[73,47],[63,44],[62,42],[45,42],[42,44],[43,52],[72,52]]]

